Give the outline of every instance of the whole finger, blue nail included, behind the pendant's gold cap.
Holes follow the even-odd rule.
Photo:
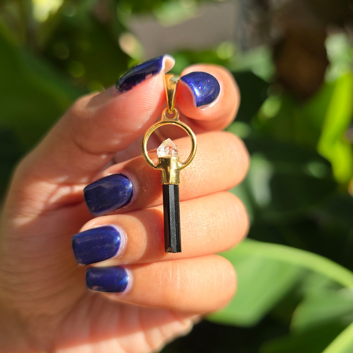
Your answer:
[[[197,141],[193,162],[180,173],[181,201],[230,189],[244,178],[249,165],[244,143],[231,133],[208,132],[197,136]],[[189,154],[190,141],[181,138],[175,142],[183,161]],[[86,204],[95,216],[161,205],[160,177],[160,172],[150,168],[142,157],[116,164],[85,187]]]

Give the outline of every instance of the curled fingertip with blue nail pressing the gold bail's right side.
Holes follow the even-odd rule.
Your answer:
[[[197,64],[185,68],[181,73],[177,108],[180,110],[180,120],[186,122],[195,133],[227,127],[234,120],[239,103],[238,85],[226,68]],[[162,127],[161,133],[171,139],[184,136],[181,129],[170,125]],[[160,142],[156,142],[156,146]],[[129,146],[130,158],[140,153],[140,142]],[[119,161],[119,157],[120,154],[117,154],[115,160]]]

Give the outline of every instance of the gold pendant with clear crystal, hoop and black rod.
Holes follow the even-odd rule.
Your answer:
[[[181,252],[179,184],[180,170],[188,166],[196,154],[196,136],[189,126],[179,120],[179,112],[174,108],[179,77],[173,74],[164,75],[164,89],[167,97],[167,108],[162,112],[162,119],[152,125],[143,136],[142,155],[146,163],[162,172],[164,249],[165,252]],[[167,117],[167,112],[172,118]],[[174,114],[174,116],[173,116]],[[181,127],[190,137],[191,152],[184,162],[179,161],[178,146],[169,138],[157,148],[158,163],[154,164],[147,153],[147,142],[158,127],[174,125]]]

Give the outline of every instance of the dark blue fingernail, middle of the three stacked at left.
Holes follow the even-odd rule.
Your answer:
[[[125,234],[115,226],[103,226],[75,234],[72,237],[72,249],[76,261],[82,265],[110,259],[122,250]],[[120,251],[121,252],[121,251]]]

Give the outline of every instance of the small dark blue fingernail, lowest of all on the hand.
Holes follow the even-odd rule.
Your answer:
[[[89,267],[86,271],[86,286],[92,291],[124,292],[131,278],[124,267]]]

